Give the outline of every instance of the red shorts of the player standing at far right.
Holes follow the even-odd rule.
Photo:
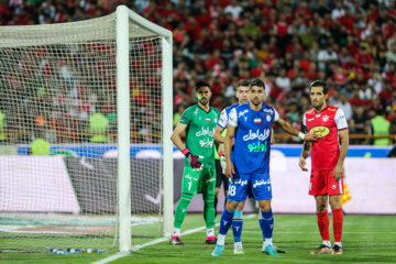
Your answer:
[[[343,179],[336,182],[333,170],[311,172],[309,183],[309,195],[342,195]]]

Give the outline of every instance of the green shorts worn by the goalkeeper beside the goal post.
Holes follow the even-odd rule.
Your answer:
[[[199,172],[194,172],[191,167],[184,167],[182,193],[190,195],[207,193],[208,195],[215,195],[215,168],[204,168]]]

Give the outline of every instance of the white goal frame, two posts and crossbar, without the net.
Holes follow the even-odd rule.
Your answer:
[[[162,58],[163,58],[163,177],[164,177],[164,232],[169,234],[172,232],[173,223],[173,144],[170,143],[172,134],[172,103],[173,103],[173,72],[172,72],[172,32],[142,19],[131,10],[121,6],[117,8],[117,91],[118,91],[118,116],[119,120],[130,120],[129,111],[129,20],[133,21],[138,25],[153,31],[162,36]],[[130,172],[130,153],[129,153],[129,124],[119,122],[119,222],[120,222],[120,251],[125,252],[131,250],[131,197],[130,195],[130,177],[125,177]],[[125,231],[125,232],[123,232]]]

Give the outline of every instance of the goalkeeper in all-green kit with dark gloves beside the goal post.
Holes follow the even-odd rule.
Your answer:
[[[173,245],[183,245],[180,229],[187,213],[187,207],[194,195],[202,194],[204,219],[207,228],[207,244],[216,244],[215,238],[215,128],[219,119],[219,111],[209,106],[211,97],[210,85],[198,81],[196,86],[198,103],[189,107],[177,123],[172,141],[186,156],[182,197],[175,212],[174,231],[169,241]],[[186,146],[182,141],[182,133],[186,132]]]

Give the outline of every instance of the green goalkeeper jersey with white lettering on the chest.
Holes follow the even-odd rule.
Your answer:
[[[205,111],[198,105],[189,107],[183,113],[180,123],[186,124],[186,146],[194,154],[204,156],[199,161],[204,164],[204,168],[215,167],[215,129],[220,112],[210,107],[209,111]],[[190,166],[187,158],[185,166]]]

